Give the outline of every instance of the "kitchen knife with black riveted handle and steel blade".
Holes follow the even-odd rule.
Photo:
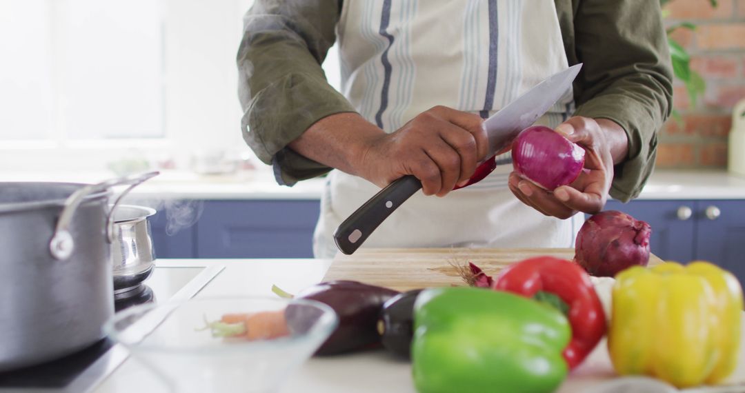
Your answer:
[[[476,169],[469,185],[484,179],[495,167],[495,154],[509,146],[520,131],[535,123],[562,98],[581,67],[582,63],[572,65],[548,77],[484,121],[489,159]],[[334,233],[336,246],[346,255],[357,251],[396,208],[421,188],[422,182],[412,175],[391,182],[340,224]]]

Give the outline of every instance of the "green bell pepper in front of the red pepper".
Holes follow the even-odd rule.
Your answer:
[[[423,291],[414,304],[413,380],[420,393],[553,392],[566,377],[567,318],[513,293]]]

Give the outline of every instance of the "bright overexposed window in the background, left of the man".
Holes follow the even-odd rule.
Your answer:
[[[252,2],[0,0],[0,169],[248,150],[235,54]]]

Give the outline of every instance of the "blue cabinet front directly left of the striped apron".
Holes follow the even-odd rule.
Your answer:
[[[197,222],[197,258],[312,258],[314,200],[211,200]]]

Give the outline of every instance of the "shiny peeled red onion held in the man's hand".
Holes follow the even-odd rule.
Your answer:
[[[551,191],[574,182],[585,164],[580,145],[544,126],[522,130],[513,142],[512,156],[518,173]]]

